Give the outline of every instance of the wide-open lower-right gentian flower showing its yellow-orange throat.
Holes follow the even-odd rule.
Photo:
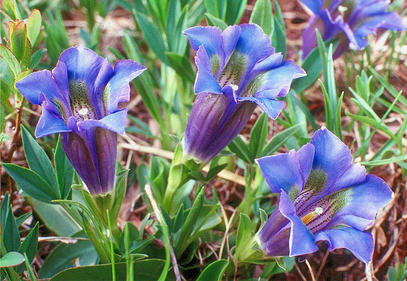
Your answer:
[[[258,233],[269,257],[298,256],[346,248],[359,260],[371,261],[374,243],[365,231],[393,192],[384,180],[366,175],[334,134],[322,128],[299,151],[257,159],[272,192],[280,193],[274,209]]]

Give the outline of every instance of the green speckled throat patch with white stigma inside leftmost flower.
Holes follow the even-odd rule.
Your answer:
[[[86,84],[79,80],[69,82],[69,102],[71,115],[78,121],[98,119],[89,99]]]

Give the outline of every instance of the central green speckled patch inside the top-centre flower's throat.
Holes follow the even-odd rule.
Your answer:
[[[246,68],[246,55],[233,52],[227,61],[225,68],[222,70],[218,81],[221,87],[225,85],[239,85],[243,72]]]

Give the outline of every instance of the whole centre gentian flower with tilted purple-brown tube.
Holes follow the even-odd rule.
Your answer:
[[[294,78],[305,72],[282,61],[256,24],[195,26],[184,31],[197,51],[195,98],[183,139],[184,155],[208,163],[243,129],[256,105],[277,118]]]

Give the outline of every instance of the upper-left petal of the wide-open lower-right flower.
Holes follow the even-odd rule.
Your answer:
[[[311,170],[314,149],[312,144],[306,144],[298,152],[293,149],[288,153],[256,159],[271,191],[296,192],[294,197],[301,192]]]

